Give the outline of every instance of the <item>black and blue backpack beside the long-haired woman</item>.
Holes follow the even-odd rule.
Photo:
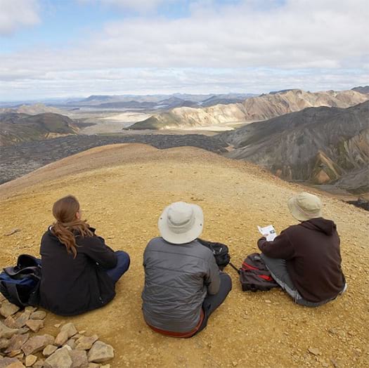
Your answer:
[[[24,308],[39,304],[41,260],[28,254],[18,256],[17,265],[0,273],[0,292],[8,301]]]

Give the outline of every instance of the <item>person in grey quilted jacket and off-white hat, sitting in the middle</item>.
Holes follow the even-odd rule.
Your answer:
[[[151,239],[143,254],[143,317],[161,334],[197,334],[232,289],[231,277],[197,241],[203,225],[200,206],[170,204],[158,221],[161,237]]]

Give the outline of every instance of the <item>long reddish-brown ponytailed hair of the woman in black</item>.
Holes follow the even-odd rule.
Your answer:
[[[67,252],[73,254],[73,258],[77,256],[76,235],[93,236],[86,220],[82,221],[76,217],[78,211],[79,202],[73,195],[60,198],[53,204],[53,216],[56,222],[53,223],[51,232],[58,237],[60,243],[65,245]]]

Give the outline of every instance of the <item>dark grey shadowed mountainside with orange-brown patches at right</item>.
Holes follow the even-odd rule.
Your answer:
[[[286,180],[369,192],[369,101],[346,109],[306,108],[219,138],[234,147],[227,157],[254,162]]]

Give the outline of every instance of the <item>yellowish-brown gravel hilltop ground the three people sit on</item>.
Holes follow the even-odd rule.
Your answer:
[[[198,336],[171,339],[143,321],[143,249],[158,235],[164,206],[177,200],[202,206],[202,237],[228,244],[240,264],[257,251],[257,225],[273,223],[280,232],[294,223],[286,201],[300,190],[252,164],[192,147],[98,147],[0,186],[0,265],[20,253],[38,254],[53,202],[71,193],[98,234],[129,252],[131,268],[112,303],[79,317],[48,314],[45,332],[68,320],[98,333],[115,347],[112,367],[368,367],[368,213],[328,195],[322,195],[325,217],[335,220],[342,239],[344,296],[304,308],[279,290],[242,292],[228,269],[233,291]],[[12,228],[21,231],[4,236]]]

